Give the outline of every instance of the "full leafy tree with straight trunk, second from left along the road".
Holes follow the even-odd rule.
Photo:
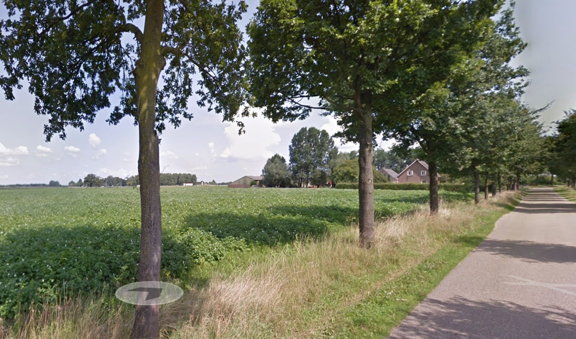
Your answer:
[[[337,136],[359,143],[362,246],[374,241],[374,136],[472,51],[497,2],[260,2],[248,25],[252,104],[272,121],[324,109],[343,128]]]

